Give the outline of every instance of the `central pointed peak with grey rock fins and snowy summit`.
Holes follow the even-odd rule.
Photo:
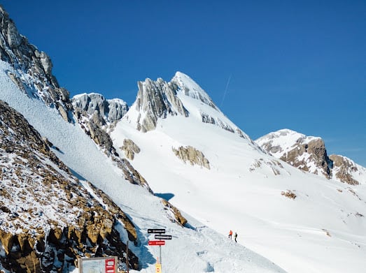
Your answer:
[[[146,132],[155,129],[157,119],[165,119],[169,115],[190,116],[190,110],[195,112],[193,116],[199,117],[200,121],[219,126],[220,128],[237,133],[241,138],[248,138],[243,131],[232,124],[223,115],[211,100],[209,95],[188,75],[177,72],[170,82],[165,82],[161,78],[156,81],[146,79],[138,82],[139,92],[134,103],[136,112],[129,112],[126,118],[136,121],[136,128]],[[188,109],[184,105],[185,98],[193,98],[199,103],[189,103],[195,105]]]

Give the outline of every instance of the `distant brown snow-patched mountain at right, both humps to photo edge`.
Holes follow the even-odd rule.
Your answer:
[[[269,154],[300,170],[353,185],[366,183],[366,168],[344,156],[328,156],[321,138],[283,129],[255,142]]]

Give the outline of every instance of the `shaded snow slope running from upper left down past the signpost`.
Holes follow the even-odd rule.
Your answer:
[[[0,99],[24,115],[59,149],[53,152],[75,175],[99,187],[129,215],[139,235],[139,245],[132,246],[132,251],[140,258],[141,272],[155,270],[157,248],[148,246],[148,239],[153,239],[147,233],[148,228],[166,228],[167,233],[174,237],[162,248],[162,266],[167,272],[283,272],[266,258],[240,244],[233,244],[189,215],[185,215],[189,228],[171,223],[160,198],[127,182],[80,126],[67,123],[57,110],[22,93],[8,78],[8,71],[13,71],[13,68],[0,61]],[[121,235],[127,238],[122,228]]]

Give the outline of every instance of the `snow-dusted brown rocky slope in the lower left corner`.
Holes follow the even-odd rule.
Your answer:
[[[61,272],[90,256],[115,255],[124,263],[118,226],[137,243],[122,210],[92,185],[88,191],[80,184],[38,132],[2,101],[0,179],[0,261],[6,270]],[[137,269],[134,253],[129,259]]]

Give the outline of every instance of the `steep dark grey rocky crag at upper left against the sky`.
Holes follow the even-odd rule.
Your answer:
[[[0,59],[14,68],[13,71],[8,71],[8,76],[20,90],[32,98],[41,98],[48,105],[54,104],[62,117],[69,121],[69,91],[59,87],[55,76],[52,75],[50,57],[19,34],[15,23],[2,6]]]

